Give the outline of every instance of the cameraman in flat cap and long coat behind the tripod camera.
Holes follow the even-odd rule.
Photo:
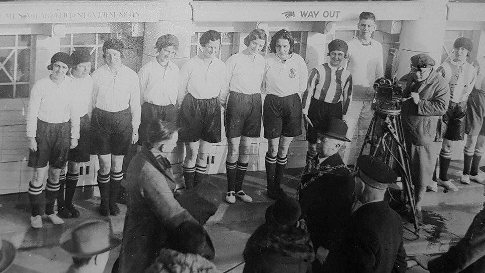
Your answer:
[[[439,117],[450,101],[450,88],[433,69],[434,60],[426,54],[411,57],[411,71],[406,82],[401,112],[417,215],[421,217],[421,199],[431,182],[440,147],[435,143]]]

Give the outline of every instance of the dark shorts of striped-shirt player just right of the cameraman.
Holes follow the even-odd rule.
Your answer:
[[[467,115],[467,101],[459,103],[450,101],[448,110],[443,115],[445,130],[443,138],[453,141],[463,140],[465,137],[465,123]]]

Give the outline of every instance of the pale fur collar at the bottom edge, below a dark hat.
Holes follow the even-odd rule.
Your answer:
[[[220,273],[209,260],[197,254],[162,249],[145,273]]]

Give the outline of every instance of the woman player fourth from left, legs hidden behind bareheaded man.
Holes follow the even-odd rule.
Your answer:
[[[138,72],[142,115],[138,129],[138,143],[147,141],[147,130],[153,119],[176,123],[176,107],[180,71],[171,58],[178,50],[178,38],[162,35],[155,43],[157,57],[145,64]]]

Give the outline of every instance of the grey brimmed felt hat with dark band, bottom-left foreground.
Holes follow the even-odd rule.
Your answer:
[[[121,243],[120,239],[112,237],[109,223],[104,220],[82,223],[73,230],[71,237],[61,247],[75,257],[98,255]]]

